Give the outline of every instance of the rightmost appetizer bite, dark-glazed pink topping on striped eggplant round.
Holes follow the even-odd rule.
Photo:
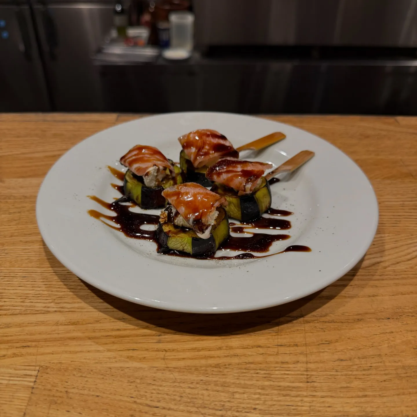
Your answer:
[[[226,198],[229,217],[249,222],[259,219],[271,207],[271,190],[264,177],[271,163],[221,159],[207,169],[213,181],[211,191]]]

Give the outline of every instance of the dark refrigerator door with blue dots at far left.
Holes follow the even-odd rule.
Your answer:
[[[28,3],[0,0],[0,111],[50,111]]]

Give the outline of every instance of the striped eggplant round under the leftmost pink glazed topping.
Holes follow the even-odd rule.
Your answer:
[[[177,174],[175,178],[172,178],[172,176],[166,176],[167,179],[162,181],[161,186],[151,188],[144,184],[143,177],[134,174],[130,169],[128,169],[123,183],[125,196],[128,196],[132,201],[138,204],[139,207],[146,210],[165,207],[166,199],[161,194],[162,191],[165,188],[171,187],[175,184],[181,184],[183,182],[181,168],[174,166],[174,170]]]

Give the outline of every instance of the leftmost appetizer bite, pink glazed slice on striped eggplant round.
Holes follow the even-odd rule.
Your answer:
[[[162,191],[182,183],[181,168],[153,146],[133,146],[120,162],[128,168],[123,183],[124,193],[141,208],[164,207],[166,200]]]

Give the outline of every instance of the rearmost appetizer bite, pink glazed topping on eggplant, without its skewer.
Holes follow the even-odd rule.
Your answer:
[[[180,166],[186,180],[209,187],[211,181],[206,178],[207,168],[220,158],[239,158],[239,152],[227,140],[226,136],[210,129],[198,129],[180,136]]]

